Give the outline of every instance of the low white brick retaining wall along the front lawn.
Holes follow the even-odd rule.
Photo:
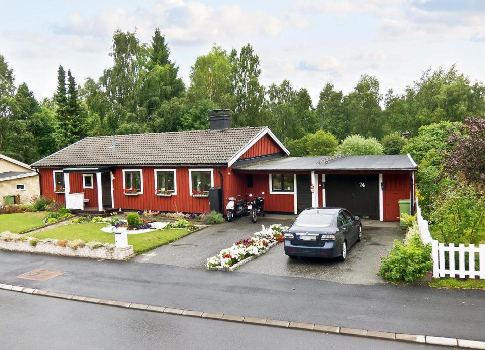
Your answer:
[[[73,250],[69,247],[61,247],[54,243],[38,242],[35,246],[30,245],[29,241],[3,241],[0,240],[0,249],[23,251],[29,253],[91,257],[95,259],[112,259],[125,260],[133,255],[133,246],[125,248],[113,248],[112,250],[105,247],[90,249],[87,246],[79,247]]]

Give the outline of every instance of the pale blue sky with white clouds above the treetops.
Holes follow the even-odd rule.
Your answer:
[[[2,4],[3,3],[3,4]],[[112,65],[113,32],[136,29],[150,42],[155,28],[169,41],[171,59],[190,83],[197,56],[216,43],[228,52],[251,43],[260,81],[289,79],[314,105],[327,82],[350,92],[362,74],[381,93],[402,93],[423,70],[456,67],[485,80],[485,1],[279,0],[19,2],[0,0],[0,55],[41,99],[52,97],[57,68],[77,82],[97,79]],[[221,106],[224,107],[224,106]]]

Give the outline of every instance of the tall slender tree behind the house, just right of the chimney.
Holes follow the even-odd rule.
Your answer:
[[[236,97],[233,123],[235,126],[262,125],[264,86],[259,83],[259,56],[248,44],[241,48],[239,56],[236,49],[232,49],[230,61],[232,89]]]

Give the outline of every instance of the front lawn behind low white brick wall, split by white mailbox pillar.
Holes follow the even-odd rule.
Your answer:
[[[106,224],[78,223],[55,227],[30,236],[37,238],[53,239],[82,239],[84,242],[115,243],[112,233],[100,231]],[[185,229],[154,230],[146,233],[128,234],[128,243],[133,245],[135,254],[141,254],[147,250],[176,241],[189,234]]]

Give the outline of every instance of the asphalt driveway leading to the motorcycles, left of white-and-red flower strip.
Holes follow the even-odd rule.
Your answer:
[[[231,223],[211,225],[175,242],[138,255],[134,261],[203,269],[207,258],[229,248],[241,238],[252,237],[255,232],[261,230],[261,225],[268,227],[280,223],[289,226],[294,218],[293,215],[267,214],[264,218],[258,217],[258,222],[254,224],[249,216],[236,218]]]

